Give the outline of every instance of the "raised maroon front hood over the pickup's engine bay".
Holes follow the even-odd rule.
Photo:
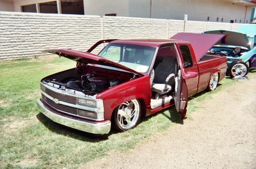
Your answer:
[[[138,71],[130,69],[129,67],[123,66],[116,62],[113,62],[113,61],[107,60],[103,57],[100,57],[96,54],[92,54],[92,53],[88,53],[88,52],[81,52],[78,50],[71,50],[71,49],[47,49],[47,50],[43,50],[43,52],[57,54],[59,56],[69,58],[69,59],[79,62],[81,64],[97,64],[97,65],[111,66],[111,67],[115,67],[118,69],[130,71],[130,72],[138,74],[138,75],[143,75],[142,73],[139,73]]]

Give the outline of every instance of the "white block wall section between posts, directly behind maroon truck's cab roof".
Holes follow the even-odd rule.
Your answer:
[[[128,17],[104,17],[105,39],[166,39],[168,20]]]

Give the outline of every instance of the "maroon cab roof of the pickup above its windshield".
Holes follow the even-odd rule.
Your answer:
[[[178,41],[179,40],[172,40],[172,39],[128,39],[128,40],[114,40],[111,43],[143,45],[147,47],[159,47],[159,45],[170,44]]]

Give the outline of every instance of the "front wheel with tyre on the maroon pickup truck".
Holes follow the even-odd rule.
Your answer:
[[[122,103],[115,108],[113,126],[115,130],[125,131],[134,128],[141,119],[141,105],[137,99]]]

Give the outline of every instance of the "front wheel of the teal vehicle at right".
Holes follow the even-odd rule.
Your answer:
[[[229,67],[229,76],[234,77],[245,77],[248,73],[248,67],[244,62],[233,62]]]

